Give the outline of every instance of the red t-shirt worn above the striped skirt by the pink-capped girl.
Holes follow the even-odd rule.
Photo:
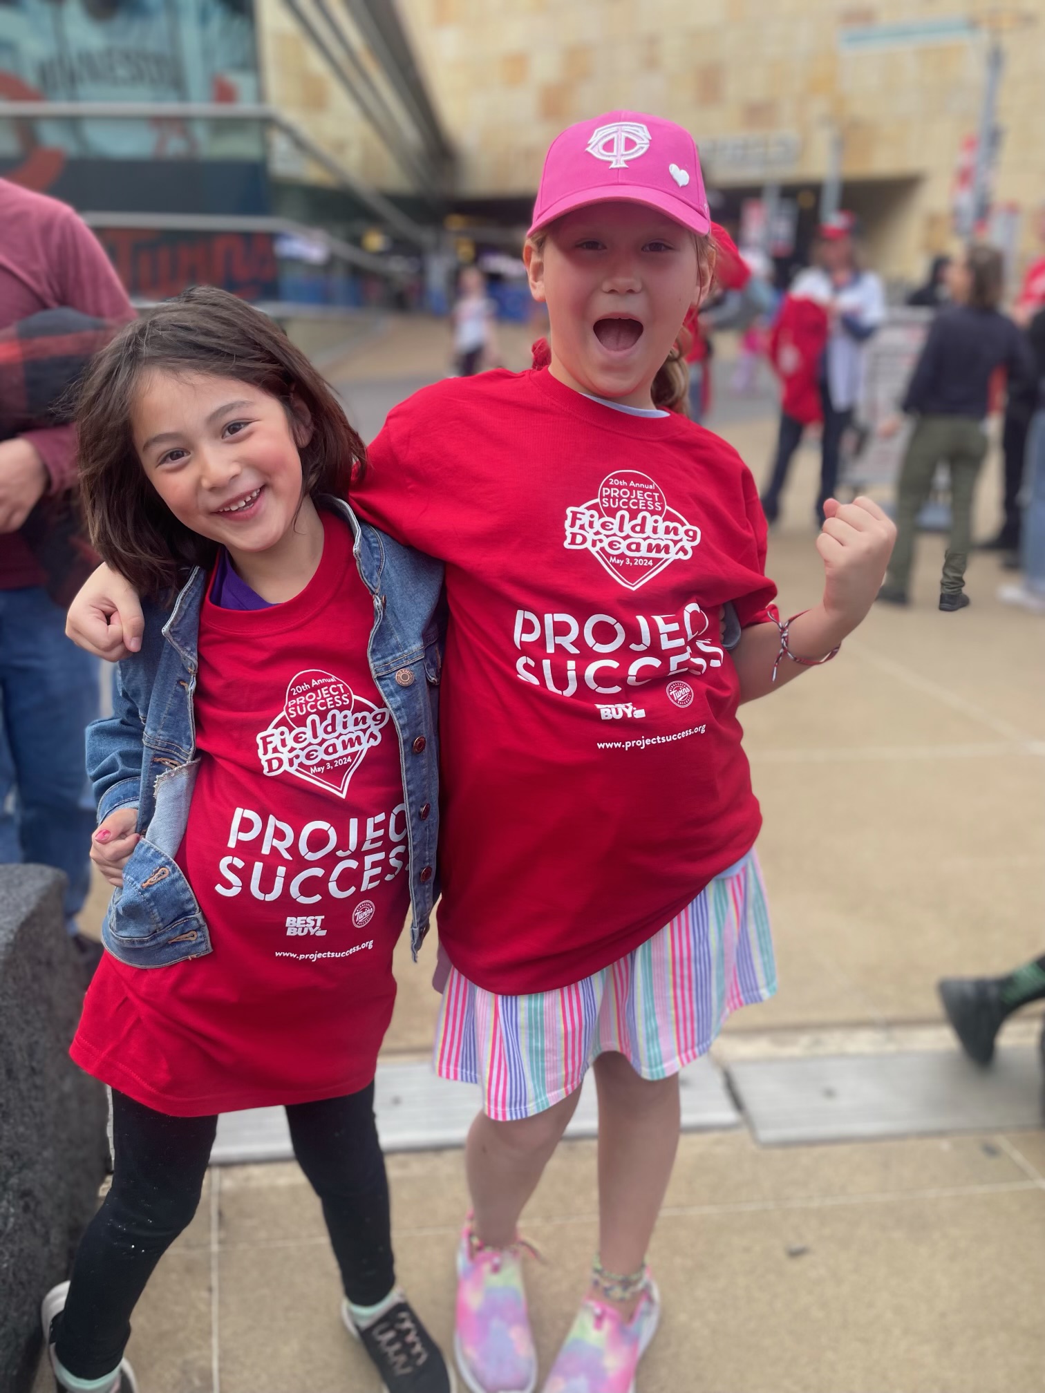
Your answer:
[[[446,561],[440,942],[493,992],[577,982],[758,833],[718,642],[775,593],[754,481],[548,371],[417,393],[369,461],[359,513]]]

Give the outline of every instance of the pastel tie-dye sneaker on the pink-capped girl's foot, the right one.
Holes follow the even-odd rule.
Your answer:
[[[548,1375],[545,1393],[635,1393],[635,1369],[659,1319],[660,1294],[651,1276],[630,1321],[588,1297]]]

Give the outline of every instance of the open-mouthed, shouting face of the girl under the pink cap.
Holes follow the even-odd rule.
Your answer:
[[[567,213],[524,251],[548,305],[552,375],[577,391],[649,407],[653,378],[711,281],[694,234],[642,203]]]

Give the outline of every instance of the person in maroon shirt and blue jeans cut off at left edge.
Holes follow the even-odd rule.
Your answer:
[[[71,322],[47,311],[65,311]],[[42,318],[45,330],[33,337]],[[46,355],[61,368],[82,352],[82,334],[57,329],[128,319],[127,293],[72,209],[0,178],[0,334],[8,340],[0,435],[4,419],[39,418],[0,439],[0,862],[36,861],[65,873],[67,925],[89,970],[100,949],[78,932],[75,917],[91,883],[95,809],[84,731],[99,713],[99,664],[65,638],[64,605],[91,568],[78,574],[86,549],[70,525],[77,435],[49,423],[54,400],[25,398],[39,391],[42,375],[50,380]]]

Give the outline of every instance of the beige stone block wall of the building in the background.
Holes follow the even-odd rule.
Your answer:
[[[259,0],[270,99],[298,116],[364,177],[405,187],[379,143],[307,52],[281,0]],[[950,185],[974,134],[984,39],[847,52],[853,26],[982,17],[985,0],[396,0],[435,103],[460,152],[460,192],[531,194],[552,138],[616,107],[687,125],[701,142],[797,137],[786,182],[818,182],[832,123],[844,131],[847,181],[892,185],[874,251],[892,274],[918,270],[949,237]],[[1045,4],[1005,33],[998,198],[1030,213],[1045,201]],[[709,160],[715,182],[761,173]],[[886,206],[888,205],[888,206]],[[1023,242],[1032,241],[1023,219]]]

